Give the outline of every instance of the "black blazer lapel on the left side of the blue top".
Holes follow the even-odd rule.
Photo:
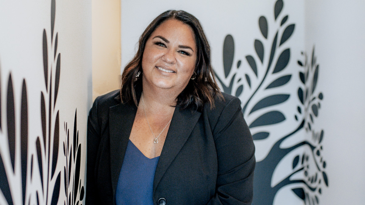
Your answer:
[[[109,108],[110,170],[113,196],[115,196],[120,169],[122,169],[124,154],[126,154],[136,113],[137,107],[128,103]]]

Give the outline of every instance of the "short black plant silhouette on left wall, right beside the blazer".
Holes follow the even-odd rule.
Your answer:
[[[70,138],[70,130],[67,126],[67,123],[64,123],[65,135],[66,135],[64,142],[64,156],[66,157],[66,161],[68,162],[64,167],[65,194],[66,194],[65,205],[78,205],[84,199],[84,193],[85,193],[84,186],[83,185],[81,186],[82,180],[80,179],[81,143],[78,141],[76,113],[77,112],[75,111],[72,138]]]

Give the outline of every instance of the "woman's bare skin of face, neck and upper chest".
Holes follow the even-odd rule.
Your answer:
[[[172,106],[193,75],[196,50],[191,27],[175,19],[158,26],[146,42],[142,57],[143,100],[139,101],[129,139],[148,158],[161,155],[175,109]],[[146,116],[156,137],[167,124],[157,144],[153,143]]]

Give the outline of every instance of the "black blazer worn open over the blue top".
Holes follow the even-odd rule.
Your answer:
[[[116,90],[97,97],[89,113],[86,205],[115,204],[137,112],[118,95]],[[155,204],[251,204],[252,136],[239,99],[223,96],[225,100],[215,100],[214,109],[209,104],[201,112],[175,109],[153,181]]]

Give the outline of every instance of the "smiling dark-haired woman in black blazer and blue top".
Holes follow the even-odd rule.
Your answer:
[[[250,204],[254,144],[199,21],[166,11],[89,113],[86,204]]]

